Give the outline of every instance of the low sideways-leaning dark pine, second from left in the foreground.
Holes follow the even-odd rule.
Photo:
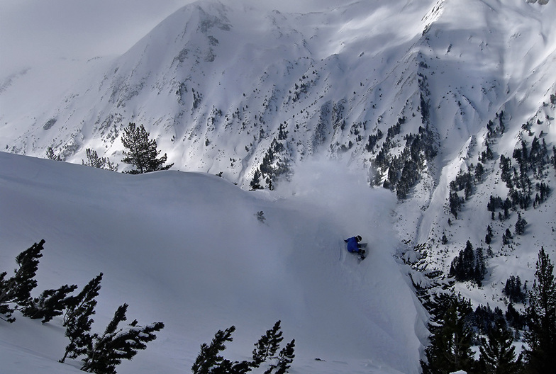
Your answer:
[[[77,289],[77,285],[62,285],[57,290],[44,290],[39,297],[33,298],[21,312],[31,319],[42,318],[43,323],[55,316],[62,315],[70,300],[68,293]]]

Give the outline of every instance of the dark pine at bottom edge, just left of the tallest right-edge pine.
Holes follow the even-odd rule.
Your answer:
[[[513,334],[504,319],[497,319],[488,331],[488,340],[480,338],[479,368],[484,374],[517,374],[521,370],[521,357],[516,361]]]

